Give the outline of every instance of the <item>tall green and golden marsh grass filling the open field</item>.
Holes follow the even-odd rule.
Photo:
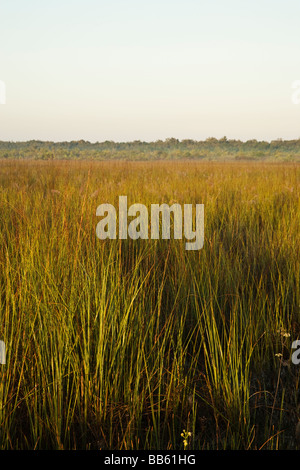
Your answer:
[[[0,448],[297,448],[299,177],[2,160]],[[203,249],[99,240],[96,208],[120,195],[203,203]]]

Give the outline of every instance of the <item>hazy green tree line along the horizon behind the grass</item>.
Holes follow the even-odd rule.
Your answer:
[[[203,141],[174,137],[155,142],[0,141],[0,159],[36,160],[285,160],[300,161],[300,139],[271,142],[210,137]]]

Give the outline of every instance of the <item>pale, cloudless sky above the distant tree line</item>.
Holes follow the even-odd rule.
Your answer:
[[[299,18],[299,0],[1,0],[0,140],[300,138]]]

